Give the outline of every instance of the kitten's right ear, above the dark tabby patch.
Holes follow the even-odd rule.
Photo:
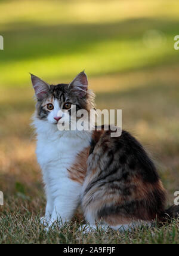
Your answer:
[[[76,95],[79,97],[85,97],[88,91],[88,79],[85,72],[82,71],[79,73],[69,86],[72,87],[73,92],[75,92]]]

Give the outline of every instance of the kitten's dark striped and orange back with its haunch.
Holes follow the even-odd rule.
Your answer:
[[[98,132],[92,141],[83,186],[84,212],[90,215],[93,211],[91,216],[109,219],[107,223],[112,225],[152,220],[166,202],[155,164],[128,132],[123,130],[118,138],[111,137],[111,132]]]

